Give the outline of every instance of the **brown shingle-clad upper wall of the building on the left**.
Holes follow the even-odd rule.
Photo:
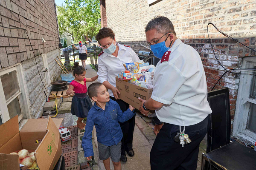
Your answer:
[[[35,55],[58,48],[54,1],[1,0],[0,5],[0,25],[8,27],[0,27],[0,69],[31,59],[32,48]],[[24,28],[28,36],[23,29],[10,28]]]

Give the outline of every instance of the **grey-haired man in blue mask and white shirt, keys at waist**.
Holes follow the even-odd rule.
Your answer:
[[[166,17],[149,21],[145,34],[148,46],[161,60],[154,71],[152,96],[148,101],[140,99],[140,110],[144,115],[148,110],[156,110],[157,118],[164,122],[151,149],[151,169],[196,170],[199,144],[207,133],[208,115],[212,113],[201,57],[177,39],[172,22]],[[174,139],[184,129],[192,142],[182,147]]]

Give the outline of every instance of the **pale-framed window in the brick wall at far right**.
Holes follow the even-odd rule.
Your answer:
[[[242,68],[256,68],[256,59],[247,57]],[[256,75],[255,72],[243,72]],[[233,135],[254,144],[256,141],[256,76],[241,75],[236,102]]]

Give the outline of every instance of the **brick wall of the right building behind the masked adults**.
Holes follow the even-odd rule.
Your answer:
[[[209,22],[245,45],[251,48],[256,46],[255,0],[162,0],[152,6],[148,6],[147,0],[129,0],[122,3],[120,0],[106,1],[107,26],[113,29],[118,42],[131,45],[137,53],[140,50],[148,51],[136,44],[146,44],[144,28],[148,21],[157,15],[168,17],[172,21],[177,37],[198,51],[204,65],[221,67],[209,44]],[[243,56],[255,55],[251,50],[219,34],[213,26],[209,26],[209,37],[216,57],[225,68],[240,68]],[[208,68],[205,72],[208,90],[224,73]],[[239,76],[227,73],[215,87],[230,88],[232,119],[238,86]]]

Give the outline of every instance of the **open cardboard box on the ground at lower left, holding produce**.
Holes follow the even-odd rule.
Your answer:
[[[35,151],[40,170],[53,170],[61,156],[62,119],[29,119],[20,132],[18,116],[0,125],[0,169],[20,170],[19,156],[9,153],[26,149]],[[38,139],[43,139],[40,144]]]

